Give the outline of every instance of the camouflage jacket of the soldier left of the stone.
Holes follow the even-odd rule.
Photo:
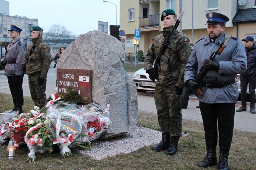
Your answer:
[[[42,40],[42,37],[39,37],[36,41],[34,52],[29,56],[34,43],[33,41],[35,41],[35,39],[32,39],[32,43],[29,44],[24,59],[22,60],[22,64],[27,62],[27,74],[40,72],[40,78],[46,79],[47,72],[51,65],[51,49],[47,43]]]

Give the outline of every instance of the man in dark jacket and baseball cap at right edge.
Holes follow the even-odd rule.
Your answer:
[[[247,56],[247,69],[243,74],[240,74],[241,81],[241,102],[242,106],[237,109],[237,112],[246,111],[246,99],[247,99],[247,85],[249,84],[250,92],[250,111],[256,113],[254,110],[255,105],[255,86],[256,86],[256,43],[252,36],[247,36],[243,39],[245,44],[245,52]]]

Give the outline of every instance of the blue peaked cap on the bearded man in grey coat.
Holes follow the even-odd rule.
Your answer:
[[[218,12],[208,12],[205,16],[207,18],[206,24],[226,24],[229,21],[229,17]]]

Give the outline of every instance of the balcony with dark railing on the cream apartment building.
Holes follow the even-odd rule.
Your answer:
[[[140,17],[139,28],[159,27],[160,26],[159,17],[160,17],[160,14]]]

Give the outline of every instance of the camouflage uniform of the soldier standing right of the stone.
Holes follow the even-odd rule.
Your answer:
[[[147,50],[145,69],[152,68],[155,58],[159,54],[164,38],[173,28],[162,31],[156,36]],[[171,136],[179,136],[182,131],[182,103],[183,95],[176,94],[175,86],[184,88],[184,67],[191,53],[189,41],[186,36],[174,30],[164,56],[170,58],[169,63],[161,60],[159,76],[155,87],[155,104],[157,108],[160,131],[169,132]]]

